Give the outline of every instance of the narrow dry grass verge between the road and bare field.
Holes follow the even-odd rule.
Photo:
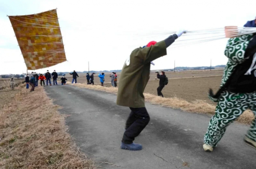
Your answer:
[[[71,84],[67,82],[67,84]],[[116,94],[118,91],[117,87],[102,87],[100,85],[88,85],[88,84],[71,84],[78,87],[88,88],[92,90],[104,91],[109,93]],[[183,111],[187,111],[190,113],[203,113],[203,114],[215,114],[215,105],[208,104],[203,100],[195,100],[192,102],[188,102],[184,99],[177,97],[159,97],[156,95],[152,95],[149,93],[144,93],[145,100],[151,102],[152,104],[162,105],[169,108],[181,109]],[[254,114],[251,110],[246,110],[238,119],[237,122],[242,124],[250,124],[252,120],[255,118]]]

